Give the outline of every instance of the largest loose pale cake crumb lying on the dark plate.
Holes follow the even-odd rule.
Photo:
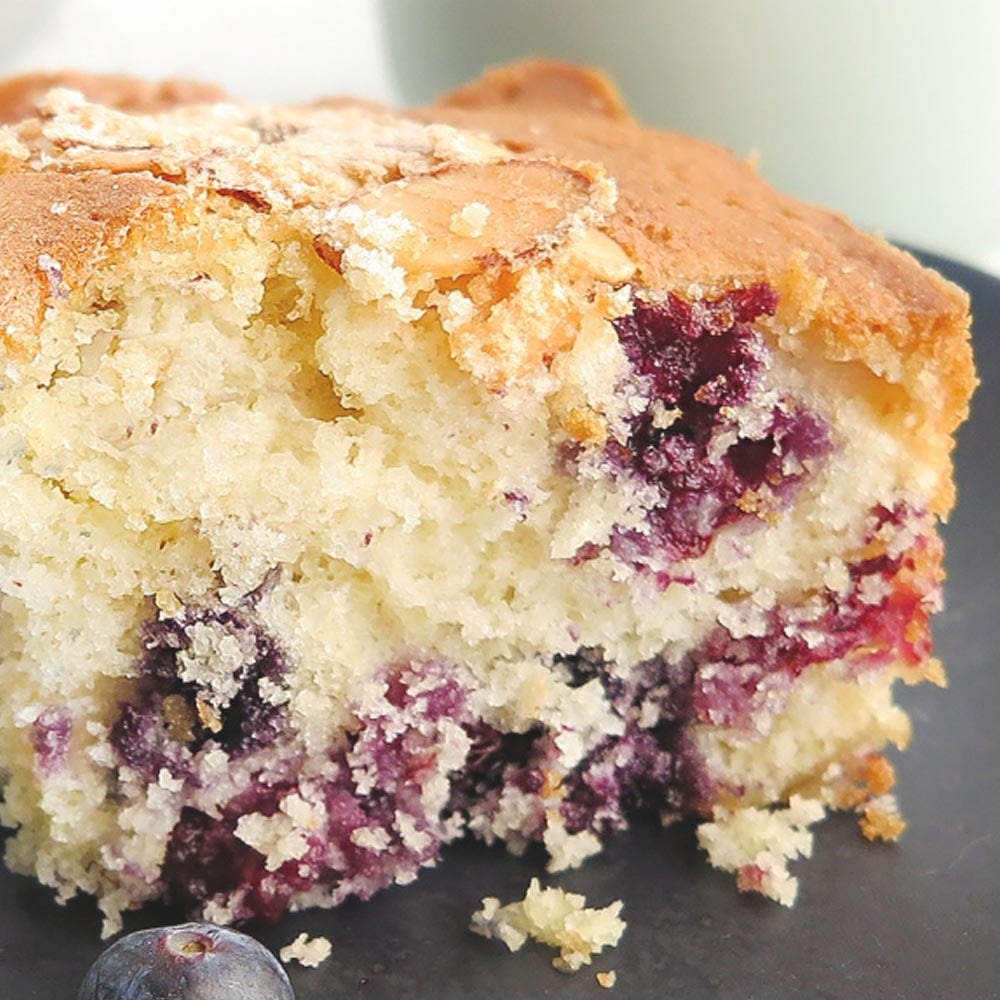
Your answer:
[[[625,931],[619,916],[621,900],[599,910],[586,903],[583,896],[564,889],[543,889],[534,878],[522,900],[501,906],[495,897],[484,899],[482,909],[472,915],[470,929],[498,938],[511,951],[518,951],[529,938],[558,948],[552,964],[560,972],[576,972],[598,952],[618,944]]]

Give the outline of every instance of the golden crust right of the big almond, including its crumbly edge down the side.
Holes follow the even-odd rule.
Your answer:
[[[605,231],[637,262],[643,284],[683,293],[769,281],[792,305],[781,318],[802,328],[804,342],[906,383],[924,433],[949,435],[976,384],[965,293],[842,216],[780,194],[717,146],[641,127],[605,86],[592,71],[531,61],[416,114],[517,151],[601,163],[619,190]],[[583,101],[581,92],[600,96]],[[946,462],[946,445],[930,447]],[[952,495],[942,472],[944,512]]]

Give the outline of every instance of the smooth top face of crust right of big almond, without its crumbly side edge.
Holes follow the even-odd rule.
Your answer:
[[[968,300],[954,285],[842,216],[780,194],[718,146],[563,102],[555,90],[540,99],[530,78],[548,77],[537,61],[495,73],[503,86],[487,74],[424,116],[486,131],[519,151],[606,166],[620,194],[610,230],[650,287],[773,279],[801,250],[827,285],[822,315],[838,327],[880,327],[899,346],[942,318],[964,316]],[[589,84],[593,74],[579,73]],[[518,74],[529,78],[520,88],[511,83]]]

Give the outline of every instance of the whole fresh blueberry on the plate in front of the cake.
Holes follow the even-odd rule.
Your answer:
[[[136,931],[90,967],[77,1000],[295,1000],[278,960],[214,924]]]

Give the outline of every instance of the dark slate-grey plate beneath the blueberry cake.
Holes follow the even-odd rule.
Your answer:
[[[961,435],[960,501],[947,527],[947,610],[938,650],[947,692],[901,697],[914,740],[899,760],[910,829],[895,846],[866,843],[854,821],[820,826],[800,863],[798,905],[742,896],[699,855],[690,826],[640,826],[560,884],[591,905],[625,901],[622,944],[593,970],[615,968],[610,993],[593,970],[564,977],[548,951],[509,955],[467,930],[480,897],[519,897],[538,857],[462,844],[413,886],[335,912],[251,928],[279,948],[325,934],[333,956],[292,971],[299,1000],[989,1000],[1000,998],[1000,281],[946,260],[929,263],[973,296],[983,385]],[[146,911],[130,928],[177,914]],[[92,903],[62,908],[29,879],[0,874],[0,998],[71,1000],[101,950]]]

